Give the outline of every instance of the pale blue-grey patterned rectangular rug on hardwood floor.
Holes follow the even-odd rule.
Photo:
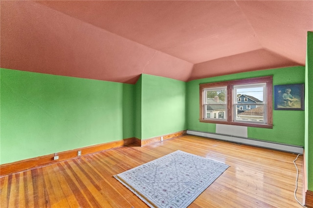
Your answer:
[[[186,208],[228,167],[178,150],[114,177],[151,208]]]

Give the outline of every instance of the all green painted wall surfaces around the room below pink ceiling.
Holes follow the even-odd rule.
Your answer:
[[[310,51],[308,56],[312,57]],[[188,83],[142,74],[135,85],[0,69],[0,164],[185,129],[214,133],[215,124],[199,122],[199,83],[268,75],[273,75],[274,85],[304,83],[313,77],[312,59],[307,65]],[[306,89],[312,92],[312,83],[307,82]],[[248,127],[248,137],[305,146],[306,158],[312,157],[313,128],[309,124],[313,112],[308,111],[307,102],[309,99],[306,114],[273,110],[273,129]],[[307,167],[312,173],[312,160],[307,160]]]

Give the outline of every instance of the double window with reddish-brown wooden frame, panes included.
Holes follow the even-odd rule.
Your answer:
[[[200,84],[200,122],[272,128],[272,87],[271,76]]]

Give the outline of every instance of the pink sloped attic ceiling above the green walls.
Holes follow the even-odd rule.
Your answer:
[[[1,67],[135,83],[305,65],[313,1],[1,1]]]

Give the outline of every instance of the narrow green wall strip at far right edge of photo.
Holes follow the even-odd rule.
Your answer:
[[[308,189],[313,190],[313,32],[308,32],[305,67],[305,159]]]

